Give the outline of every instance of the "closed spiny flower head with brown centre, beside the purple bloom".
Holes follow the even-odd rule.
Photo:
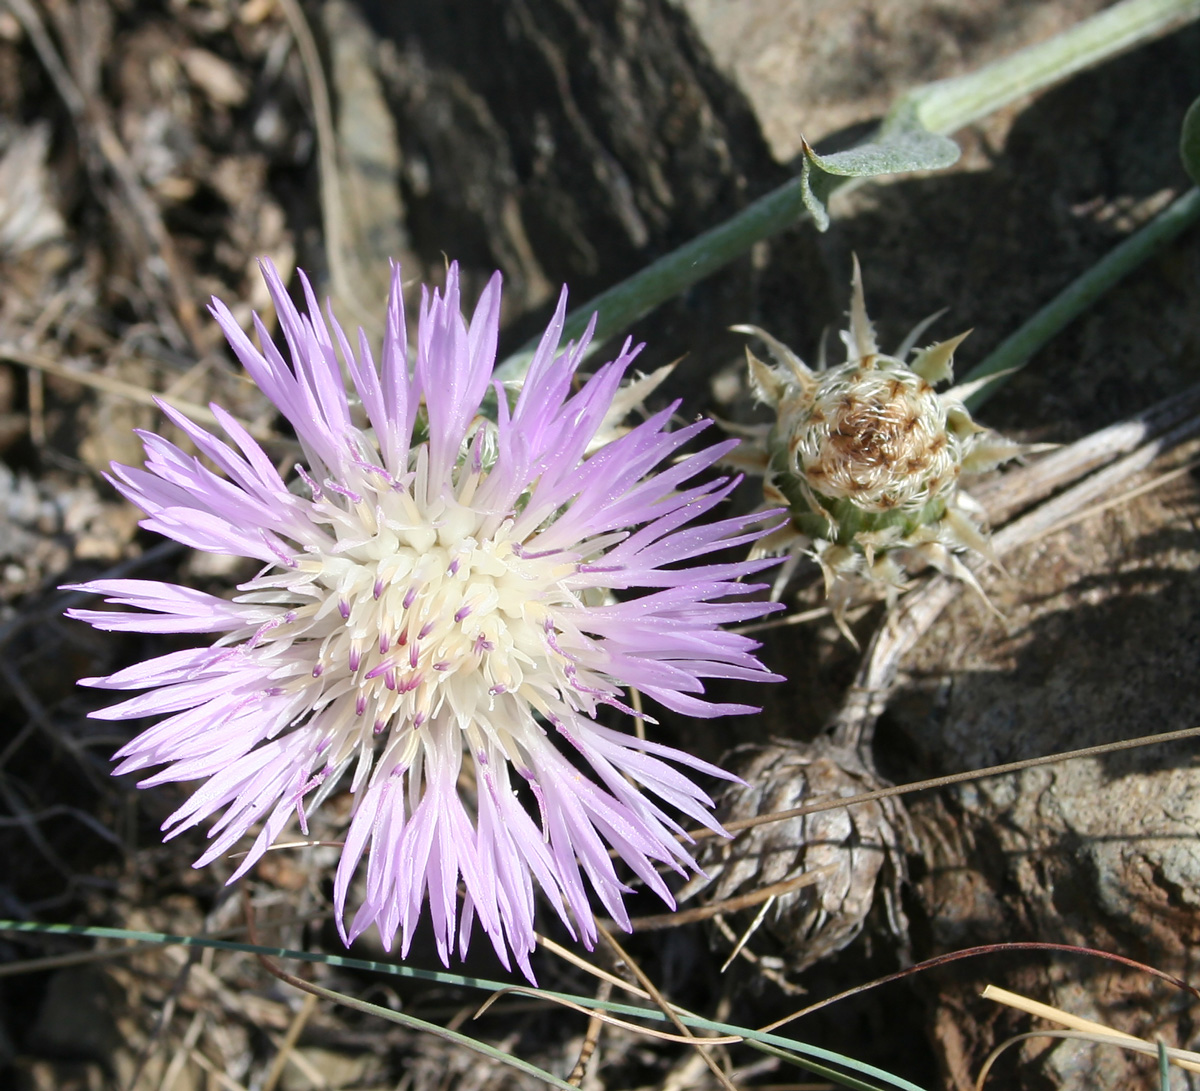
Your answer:
[[[768,365],[746,349],[750,384],[775,419],[745,430],[756,443],[727,460],[761,474],[766,503],[788,509],[788,522],[757,546],[788,553],[774,597],[797,562],[811,556],[847,636],[845,607],[856,580],[895,593],[910,567],[931,564],[979,589],[959,555],[992,559],[991,547],[983,511],[959,479],[1039,449],[976,424],[964,404],[966,386],[935,390],[953,377],[954,350],[967,335],[913,352],[934,318],[895,355],[880,352],[856,259],[844,364],[814,371],[764,330],[734,328],[758,337],[774,359]]]

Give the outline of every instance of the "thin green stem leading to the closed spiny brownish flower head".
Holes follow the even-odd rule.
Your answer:
[[[964,378],[964,383],[996,376],[967,400],[976,409],[1025,366],[1043,344],[1078,318],[1122,277],[1133,272],[1181,232],[1200,220],[1200,188],[1188,190],[1145,227],[1115,246],[1082,276],[1072,281],[1050,302],[1007,337]]]

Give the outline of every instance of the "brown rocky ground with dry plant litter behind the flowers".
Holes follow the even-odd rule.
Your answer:
[[[388,257],[415,284],[442,276],[449,256],[468,292],[504,271],[503,354],[545,322],[560,283],[581,302],[786,180],[802,134],[818,150],[846,146],[901,91],[1103,6],[10,0],[0,8],[0,916],[244,935],[240,891],[222,886],[233,865],[188,868],[198,837],[160,844],[178,793],[109,778],[124,736],[88,720],[97,697],[73,685],[148,646],[64,622],[68,600],[56,591],[101,573],[216,592],[242,577],[138,530],[100,476],[114,458],[139,458],[131,428],[161,425],[155,391],[220,401],[288,454],[265,398],[223,350],[209,295],[247,319],[264,307],[254,263],[266,256],[311,270],[371,329]],[[684,415],[755,419],[744,338],[728,326],[754,323],[815,359],[822,331],[840,328],[853,253],[884,346],[946,307],[935,331],[973,328],[959,354],[970,367],[1186,188],[1176,146],[1200,94],[1198,49],[1190,26],[1075,76],[956,133],[953,169],[863,187],[835,199],[828,233],[800,224],[757,245],[632,330],[647,368],[680,360],[660,396],[682,397]],[[323,156],[336,164],[336,192],[328,170],[323,187]],[[984,419],[1068,444],[1180,394],[1196,378],[1198,313],[1193,230],[1038,353]],[[1184,446],[1122,488],[1194,455]],[[985,493],[994,512],[1008,510],[1004,490]],[[740,748],[732,760],[774,802],[731,801],[737,810],[1192,726],[1196,515],[1186,469],[1006,556],[1006,571],[984,577],[1003,622],[977,597],[956,597],[901,658],[865,757],[812,742],[859,664],[828,618],[763,634],[764,658],[790,678],[754,694],[763,715],[666,719],[662,737],[712,760]],[[812,606],[814,592],[799,588],[791,605]],[[864,645],[881,613],[857,616]],[[671,999],[748,1026],[979,943],[1099,947],[1187,977],[1200,952],[1193,753],[1148,748],[926,792],[818,831],[780,827],[762,851],[779,856],[788,838],[817,833],[835,843],[844,885],[827,886],[824,903],[798,898],[725,973],[728,935],[755,910],[730,913],[728,935],[689,924],[635,936],[630,954]],[[348,799],[331,803],[316,831],[330,839]],[[259,867],[250,892],[268,942],[341,949],[334,859],[334,849],[311,849]],[[761,881],[727,877],[689,904]],[[635,899],[635,912],[658,911]],[[364,942],[359,953],[378,952]],[[432,949],[413,960],[436,965]],[[478,1001],[311,972],[443,1025],[463,1024]],[[468,972],[502,973],[482,952]],[[547,988],[594,990],[550,957],[539,976]],[[1144,1037],[1194,1042],[1186,994],[1045,953],[930,971],[791,1032],[925,1087],[967,1087],[995,1044],[1032,1025],[982,1001],[989,982]],[[586,1020],[510,1000],[469,1026],[565,1074]],[[737,1048],[721,1063],[739,1087],[803,1079]],[[1150,1086],[1151,1072],[1031,1039],[992,1079],[1127,1087]],[[6,1080],[22,1091],[533,1086],[439,1039],[308,1002],[248,955],[32,936],[0,937]],[[715,1083],[680,1047],[606,1030],[583,1086]]]

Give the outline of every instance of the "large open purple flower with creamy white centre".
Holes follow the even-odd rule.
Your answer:
[[[348,780],[334,885],[347,943],[376,924],[407,953],[427,900],[443,961],[456,934],[466,951],[478,916],[502,961],[511,948],[530,976],[535,883],[589,946],[584,876],[628,924],[610,846],[673,904],[658,865],[695,864],[660,801],[720,827],[667,762],[728,774],[595,715],[630,712],[626,687],[685,715],[752,712],[706,701],[703,679],[778,679],[751,640],[718,628],[772,609],[738,581],[773,562],[696,563],[763,533],[761,516],[697,524],[736,481],[696,478],[733,444],[680,458],[706,422],[666,431],[673,406],[618,434],[612,404],[636,349],[582,380],[590,330],[558,352],[565,292],[510,397],[492,378],[499,274],[469,324],[456,266],[444,293],[422,294],[410,362],[394,269],[380,368],[361,332],[355,352],[332,314],[326,324],[307,280],[301,314],[275,269],[264,275],[287,358],[257,317],[262,350],[222,302],[211,311],[295,428],[300,481],[289,488],[217,406],[232,445],[161,408],[223,475],[152,432],[140,433],[144,469],[113,467],[143,527],[264,565],[232,601],[150,580],[83,585],[133,607],[71,611],[98,629],[218,637],[85,679],[145,690],[94,715],[161,717],[115,772],[164,766],[143,787],[204,781],[163,825],[174,837],[220,813],[197,867],[262,823],[234,879],[293,816],[307,832],[306,801]],[[494,422],[481,415],[490,397]],[[347,928],[364,853],[366,897]]]

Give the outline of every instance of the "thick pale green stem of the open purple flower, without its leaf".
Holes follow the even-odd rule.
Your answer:
[[[954,79],[942,79],[904,95],[888,112],[883,130],[917,124],[948,134],[1014,98],[1045,88],[1124,49],[1165,34],[1200,16],[1200,0],[1122,0],[1037,46]],[[830,178],[838,188],[846,178]],[[854,179],[862,181],[862,179]],[[566,319],[565,337],[578,337],[599,312],[593,347],[628,329],[660,304],[710,276],[755,242],[808,217],[800,180],[793,178],[736,216],[664,254],[644,269],[601,292]],[[523,344],[497,368],[496,377],[518,382],[529,368],[536,340]]]

